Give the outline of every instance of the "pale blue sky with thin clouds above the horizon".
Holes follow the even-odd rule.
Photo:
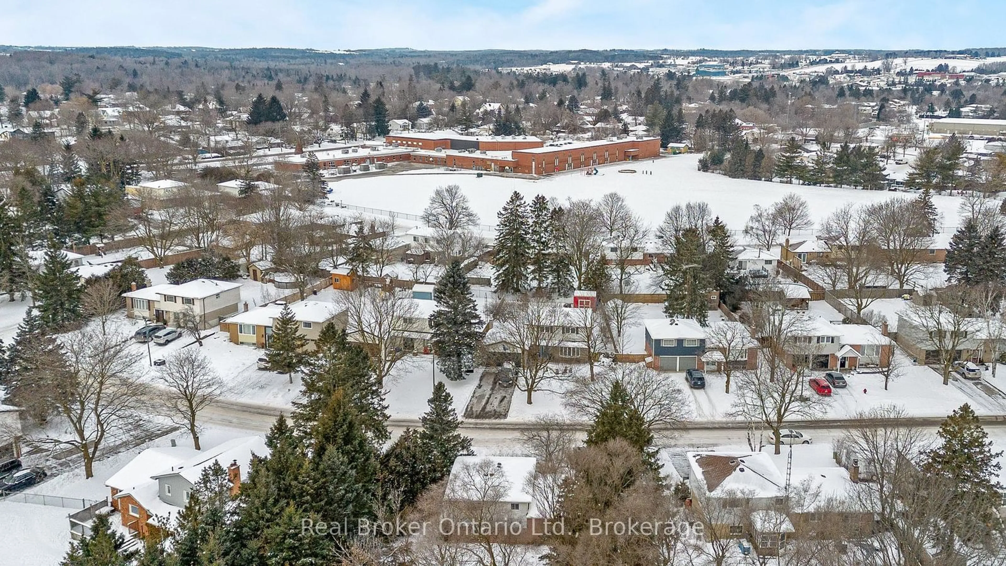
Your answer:
[[[0,43],[361,49],[1006,46],[1003,0],[8,0]]]

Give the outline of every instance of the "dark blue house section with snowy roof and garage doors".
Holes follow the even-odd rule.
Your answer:
[[[652,367],[664,372],[704,369],[705,328],[690,318],[647,318],[646,352]]]

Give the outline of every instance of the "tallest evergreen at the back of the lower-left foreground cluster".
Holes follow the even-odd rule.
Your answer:
[[[308,434],[336,393],[345,395],[356,419],[374,445],[390,438],[384,391],[374,376],[366,351],[346,339],[345,330],[329,322],[315,342],[317,350],[304,365],[303,390],[294,402],[291,418],[301,434]]]

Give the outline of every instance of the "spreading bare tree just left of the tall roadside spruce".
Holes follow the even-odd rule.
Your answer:
[[[374,375],[382,384],[412,353],[407,342],[424,337],[416,333],[423,329],[418,306],[403,293],[359,287],[339,293],[335,304],[345,310],[350,339],[370,353]]]

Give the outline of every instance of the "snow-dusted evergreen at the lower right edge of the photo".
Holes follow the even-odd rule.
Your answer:
[[[999,457],[993,452],[992,441],[982,428],[971,406],[955,410],[937,431],[940,444],[931,450],[923,464],[923,472],[949,481],[958,512],[944,517],[951,533],[975,537],[976,528],[983,529],[996,517],[1000,505]],[[967,510],[967,513],[960,513]]]

